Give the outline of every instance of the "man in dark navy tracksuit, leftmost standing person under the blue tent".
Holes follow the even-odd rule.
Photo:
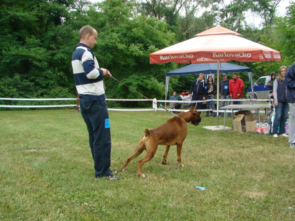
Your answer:
[[[191,100],[206,100],[206,95],[207,95],[207,84],[204,81],[204,74],[200,73],[199,78],[193,80],[193,83],[191,83],[191,89],[190,89],[190,97]],[[202,108],[202,103],[203,102],[198,102],[197,105],[197,110],[201,110]],[[193,105],[194,103],[191,103]],[[199,111],[201,114],[201,112]]]

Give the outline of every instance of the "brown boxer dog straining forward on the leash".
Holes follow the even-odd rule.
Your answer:
[[[138,161],[138,176],[145,177],[144,174],[141,173],[141,167],[145,162],[148,162],[154,157],[158,145],[166,145],[162,164],[167,165],[166,159],[169,148],[172,145],[176,145],[177,161],[179,166],[183,166],[183,164],[181,164],[181,148],[184,139],[187,137],[188,122],[191,122],[191,124],[195,126],[199,125],[201,122],[200,114],[196,111],[196,106],[194,107],[194,105],[192,105],[189,110],[179,113],[177,116],[151,130],[145,129],[145,135],[140,138],[139,144],[137,145],[134,153],[125,161],[120,171],[124,172],[128,163],[146,150],[145,156]]]

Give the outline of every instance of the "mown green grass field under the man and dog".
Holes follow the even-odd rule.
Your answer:
[[[109,115],[116,170],[145,128],[171,118],[164,111]],[[144,152],[113,181],[94,178],[79,112],[1,111],[0,220],[295,220],[295,151],[288,139],[202,128],[214,125],[213,117],[188,124],[184,167],[173,146],[162,165],[159,146],[143,166],[145,178],[137,176]]]

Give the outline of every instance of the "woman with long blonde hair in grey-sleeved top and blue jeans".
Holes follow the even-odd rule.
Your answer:
[[[289,111],[287,103],[286,85],[284,83],[287,67],[281,66],[277,78],[273,82],[273,99],[275,108],[275,118],[273,120],[273,137],[277,138],[278,134],[283,137],[289,137],[285,134],[285,124]],[[279,128],[280,124],[280,128]]]

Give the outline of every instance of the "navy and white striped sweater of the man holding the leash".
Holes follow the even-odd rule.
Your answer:
[[[106,99],[102,81],[104,72],[87,45],[78,43],[72,56],[72,67],[80,96],[94,100]]]

